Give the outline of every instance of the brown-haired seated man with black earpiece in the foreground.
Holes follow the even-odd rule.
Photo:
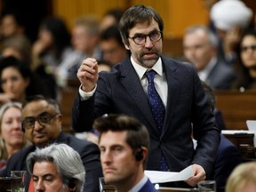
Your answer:
[[[105,182],[117,192],[156,192],[144,175],[148,156],[148,129],[137,119],[124,115],[109,115],[95,120],[100,132],[100,161]]]

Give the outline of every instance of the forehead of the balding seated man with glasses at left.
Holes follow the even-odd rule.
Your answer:
[[[29,102],[22,109],[22,116],[37,116],[42,112],[53,112],[55,109],[46,100],[36,100]]]

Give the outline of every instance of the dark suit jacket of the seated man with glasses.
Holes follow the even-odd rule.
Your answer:
[[[75,136],[60,132],[59,138],[55,141],[56,143],[66,143],[71,148],[74,148],[82,158],[85,168],[85,184],[84,191],[96,192],[100,191],[99,177],[102,177],[102,170],[100,165],[100,150],[97,145],[86,140],[79,140]],[[13,154],[6,169],[0,172],[1,176],[10,176],[12,170],[25,170],[28,171],[26,166],[26,158],[30,152],[36,150],[35,145],[22,148],[17,153]],[[26,188],[30,175],[26,178]],[[27,190],[26,190],[27,191]]]

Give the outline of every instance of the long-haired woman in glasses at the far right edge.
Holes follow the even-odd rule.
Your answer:
[[[237,80],[235,89],[256,89],[256,31],[247,31],[241,39],[239,56],[234,66]]]

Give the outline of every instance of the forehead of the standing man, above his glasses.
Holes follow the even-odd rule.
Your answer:
[[[131,28],[129,35],[132,36],[136,33],[148,34],[153,30],[159,30],[159,26],[156,20],[151,20],[150,22],[145,21],[143,23],[138,23],[133,28]]]

